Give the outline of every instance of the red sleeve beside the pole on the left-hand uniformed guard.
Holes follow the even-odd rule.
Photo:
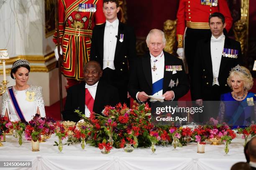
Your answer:
[[[62,37],[64,35],[64,18],[65,18],[65,9],[64,9],[64,4],[65,1],[64,0],[59,0],[58,1],[58,5],[59,5],[59,37],[60,37],[60,44],[62,42]],[[53,37],[53,41],[55,44],[57,44],[57,30],[55,28],[55,32],[54,32],[54,37]]]

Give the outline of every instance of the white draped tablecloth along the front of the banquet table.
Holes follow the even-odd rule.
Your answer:
[[[32,168],[8,170],[229,170],[237,162],[246,162],[243,140],[237,138],[230,144],[227,156],[224,156],[224,144],[207,144],[203,154],[197,153],[196,143],[189,143],[175,151],[172,146],[157,146],[156,155],[151,155],[150,148],[139,148],[132,153],[113,148],[104,155],[89,145],[82,150],[80,144],[64,145],[63,153],[58,153],[57,146],[53,146],[57,141],[55,135],[46,143],[40,143],[38,152],[32,152],[31,142],[25,139],[21,148],[18,138],[8,135],[6,141],[0,147],[0,161],[32,161]]]

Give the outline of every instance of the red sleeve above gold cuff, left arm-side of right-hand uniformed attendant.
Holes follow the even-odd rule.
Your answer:
[[[186,16],[185,16],[185,1],[179,1],[179,9],[177,12],[177,31],[176,35],[184,35],[184,31],[186,28]],[[178,37],[177,37],[178,38]]]

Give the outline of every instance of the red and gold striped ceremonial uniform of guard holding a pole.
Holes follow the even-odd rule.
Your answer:
[[[79,10],[79,4],[96,10]],[[65,77],[83,80],[83,68],[90,60],[92,30],[105,23],[103,0],[59,0],[59,33],[63,51],[61,72]],[[53,41],[57,44],[57,32]]]

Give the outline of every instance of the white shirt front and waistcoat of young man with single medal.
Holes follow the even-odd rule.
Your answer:
[[[106,20],[105,31],[104,31],[104,47],[103,47],[103,70],[109,67],[115,70],[114,58],[115,58],[115,47],[118,36],[118,25],[119,20],[116,19],[113,23]],[[109,62],[109,65],[108,65]]]

